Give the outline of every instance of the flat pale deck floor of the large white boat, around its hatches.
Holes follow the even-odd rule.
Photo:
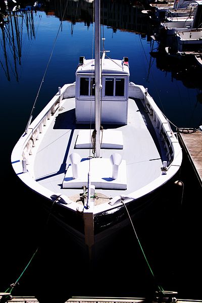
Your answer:
[[[45,132],[44,138],[37,149],[34,163],[36,180],[47,189],[67,196],[82,191],[81,189],[69,189],[62,186],[70,164],[69,155],[74,152],[79,154],[81,159],[92,156],[91,149],[89,151],[87,148],[75,148],[79,131],[84,130],[86,125],[75,125],[74,107],[74,98],[67,99],[63,104],[55,121]],[[128,124],[116,128],[122,132],[123,149],[101,149],[101,157],[109,158],[113,153],[119,153],[126,162],[127,174],[125,179],[127,179],[127,189],[99,189],[100,192],[109,197],[133,192],[162,174],[162,160],[146,126],[150,122],[145,120],[144,112],[141,113],[140,111],[142,109],[137,108],[135,101],[129,99]]]

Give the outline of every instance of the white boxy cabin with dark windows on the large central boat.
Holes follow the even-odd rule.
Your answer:
[[[128,58],[102,58],[100,108],[102,124],[127,124],[129,95]],[[80,57],[76,70],[76,123],[95,122],[95,64]]]

